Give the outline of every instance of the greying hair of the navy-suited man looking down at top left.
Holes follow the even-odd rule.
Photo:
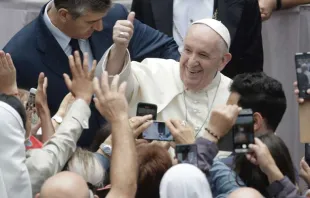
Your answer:
[[[111,0],[54,0],[57,10],[64,8],[74,19],[85,14],[87,10],[105,12],[111,7]]]

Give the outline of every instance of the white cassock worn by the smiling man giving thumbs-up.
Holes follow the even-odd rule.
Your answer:
[[[101,76],[105,70],[110,49],[99,62],[96,76]],[[184,91],[179,62],[159,58],[147,58],[141,63],[131,62],[127,51],[120,81],[128,83],[126,97],[130,117],[136,115],[139,102],[153,103],[158,108],[158,121],[186,120],[195,129],[196,137],[199,137],[208,123],[211,110],[226,104],[232,80],[218,72],[205,89],[199,92]]]

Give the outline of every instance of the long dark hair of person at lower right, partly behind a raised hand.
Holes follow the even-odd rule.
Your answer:
[[[258,137],[268,147],[271,156],[276,165],[295,184],[295,171],[288,148],[283,140],[274,135],[267,133]],[[255,188],[264,196],[269,196],[266,188],[269,186],[267,176],[260,168],[252,164],[245,155],[237,155],[235,158],[235,171],[242,179],[246,186]]]

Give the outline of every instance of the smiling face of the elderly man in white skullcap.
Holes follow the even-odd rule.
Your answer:
[[[185,87],[193,91],[207,87],[217,71],[230,61],[231,55],[225,52],[224,40],[213,29],[203,24],[192,25],[184,39],[180,60]]]

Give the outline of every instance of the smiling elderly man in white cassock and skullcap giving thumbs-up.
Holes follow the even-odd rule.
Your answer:
[[[200,136],[213,107],[226,104],[231,79],[220,71],[231,60],[228,29],[214,19],[194,22],[184,39],[180,62],[147,58],[131,62],[127,46],[133,33],[130,13],[116,24],[114,45],[98,64],[96,75],[107,71],[127,81],[126,97],[130,116],[135,116],[139,102],[158,106],[157,120],[184,120]]]

